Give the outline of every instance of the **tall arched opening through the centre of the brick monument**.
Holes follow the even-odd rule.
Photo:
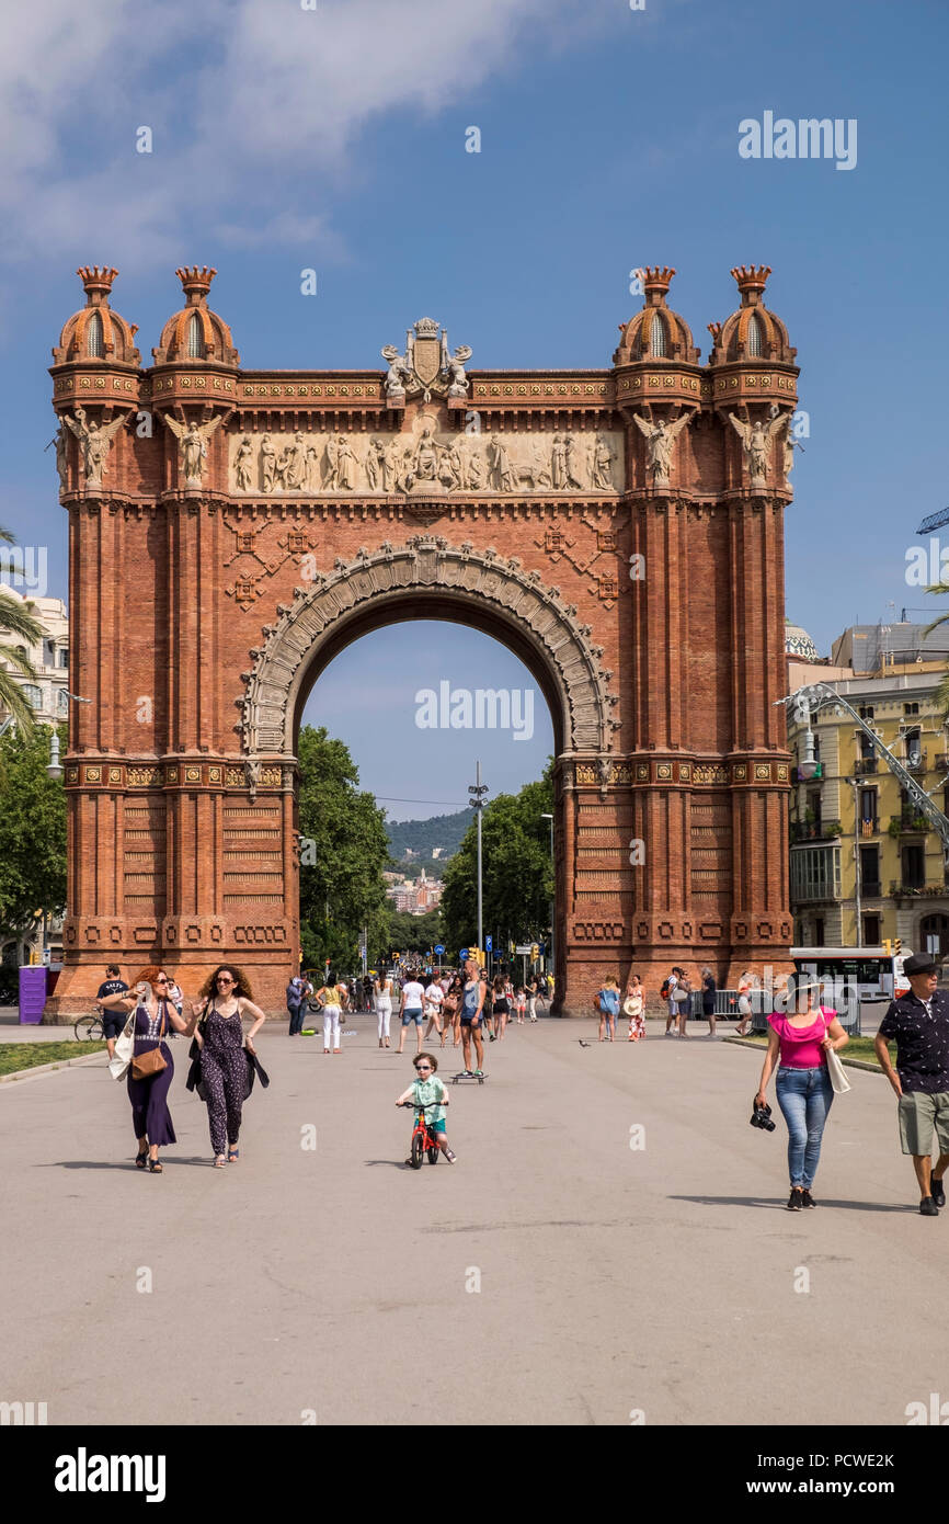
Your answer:
[[[384,613],[375,628],[353,636],[341,649],[328,645],[320,651],[300,689],[294,724],[305,774],[297,821],[306,843],[300,852],[302,943],[314,949],[321,940],[318,959],[308,952],[308,966],[335,957],[347,937],[350,962],[361,959],[366,945],[366,968],[370,959],[378,963],[393,951],[408,962],[420,956],[454,966],[462,948],[480,946],[489,971],[509,975],[515,988],[532,974],[553,971],[556,832],[553,791],[544,774],[554,753],[554,732],[536,657],[533,666],[524,664],[509,643],[472,628],[469,619],[417,619],[404,607]],[[349,873],[335,861],[332,840],[341,815],[331,803],[329,756],[321,750],[328,742],[318,742],[314,728],[302,735],[302,725],[324,727],[344,744],[358,768],[358,789],[369,791],[387,815],[393,840],[393,863],[385,864],[387,904],[367,917],[372,925],[366,939],[358,934],[361,920],[353,922],[352,878],[358,876],[366,890],[369,876],[361,860],[350,860]],[[487,788],[483,940],[468,797],[475,764]],[[323,774],[318,785],[329,789],[326,823],[314,806],[314,774]],[[497,805],[500,796],[506,799]],[[353,789],[352,837],[370,841],[356,797]],[[463,838],[468,846],[460,850]],[[446,952],[430,959],[436,946]],[[516,952],[533,946],[536,957]],[[363,971],[356,965],[356,972]]]

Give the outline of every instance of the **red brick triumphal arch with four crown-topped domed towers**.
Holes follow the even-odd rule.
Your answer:
[[[47,1020],[104,960],[186,991],[222,957],[283,1006],[299,954],[294,756],[317,674],[369,629],[510,646],[556,745],[558,992],[673,962],[786,965],[783,512],[795,351],[739,268],[707,364],[647,270],[602,370],[477,370],[422,319],[385,370],[248,370],[180,270],[154,363],[110,305],[53,349],[70,521],[69,917]],[[387,335],[382,335],[387,337]],[[452,683],[460,674],[446,672]]]

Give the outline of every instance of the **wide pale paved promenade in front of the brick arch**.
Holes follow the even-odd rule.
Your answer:
[[[161,1177],[131,1167],[99,1062],[0,1087],[0,1399],[50,1423],[417,1423],[425,1401],[454,1423],[813,1433],[949,1396],[949,1210],[919,1216],[876,1074],[850,1071],[821,1205],[791,1215],[783,1123],[748,1126],[759,1053],[513,1027],[483,1087],[451,1087],[457,1166],[413,1172],[408,1058],[349,1027],[341,1058],[262,1032],[271,1087],[224,1170],[184,1041]]]

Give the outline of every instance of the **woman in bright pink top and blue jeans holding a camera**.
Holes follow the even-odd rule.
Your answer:
[[[791,1175],[788,1210],[800,1212],[801,1207],[816,1205],[810,1187],[821,1157],[824,1123],[833,1100],[826,1049],[842,1049],[848,1038],[836,1012],[824,1010],[821,1006],[821,986],[818,983],[798,985],[797,1010],[794,1003],[789,1006],[788,1015],[775,1010],[774,1015],[768,1017],[771,1027],[768,1052],[754,1103],[765,1105],[768,1081],[780,1053],[774,1090],[781,1116],[788,1123],[788,1172]]]

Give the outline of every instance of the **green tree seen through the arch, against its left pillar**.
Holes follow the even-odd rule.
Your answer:
[[[300,732],[300,942],[303,962],[341,971],[359,962],[359,934],[384,940],[385,811],[359,789],[347,747],[323,727]]]

